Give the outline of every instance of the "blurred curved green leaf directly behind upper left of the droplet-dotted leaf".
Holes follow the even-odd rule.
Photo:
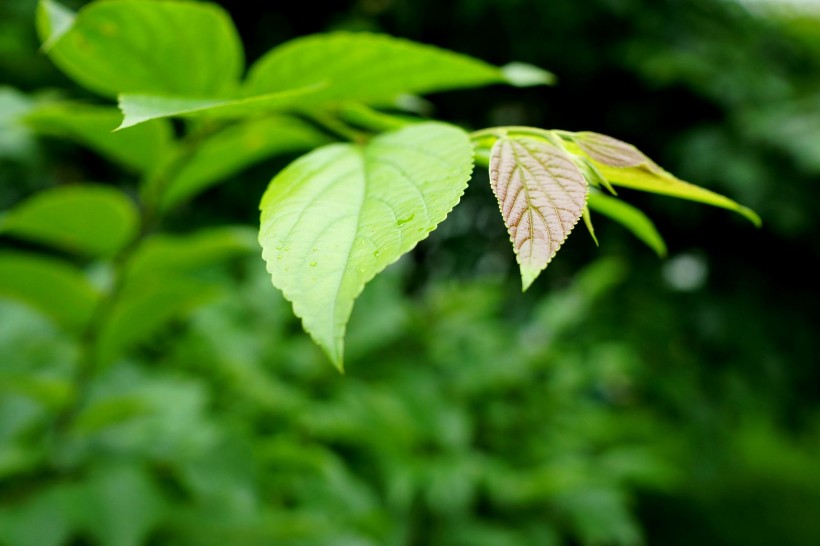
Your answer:
[[[171,207],[267,157],[316,148],[328,141],[327,136],[307,123],[286,116],[228,127],[197,147],[162,191],[161,204]]]

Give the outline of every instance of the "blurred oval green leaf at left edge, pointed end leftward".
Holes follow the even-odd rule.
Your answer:
[[[0,216],[0,233],[88,256],[108,256],[136,235],[136,207],[106,186],[42,191]]]

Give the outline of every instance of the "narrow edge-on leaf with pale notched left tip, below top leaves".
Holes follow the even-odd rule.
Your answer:
[[[155,95],[122,94],[119,107],[123,120],[119,129],[126,129],[146,121],[174,116],[243,118],[258,117],[265,112],[286,110],[299,104],[307,95],[316,93],[323,85],[288,89],[279,93],[265,93],[253,97],[197,98],[164,97]]]

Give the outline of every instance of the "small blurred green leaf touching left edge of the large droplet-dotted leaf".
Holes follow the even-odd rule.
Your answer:
[[[153,235],[132,255],[125,278],[136,283],[148,277],[162,279],[193,272],[256,248],[256,236],[246,227],[203,229],[193,235]]]

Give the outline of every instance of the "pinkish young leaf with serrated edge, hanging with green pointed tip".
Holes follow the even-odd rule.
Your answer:
[[[490,153],[490,183],[526,290],[581,218],[587,182],[572,158],[555,144],[505,137]]]

